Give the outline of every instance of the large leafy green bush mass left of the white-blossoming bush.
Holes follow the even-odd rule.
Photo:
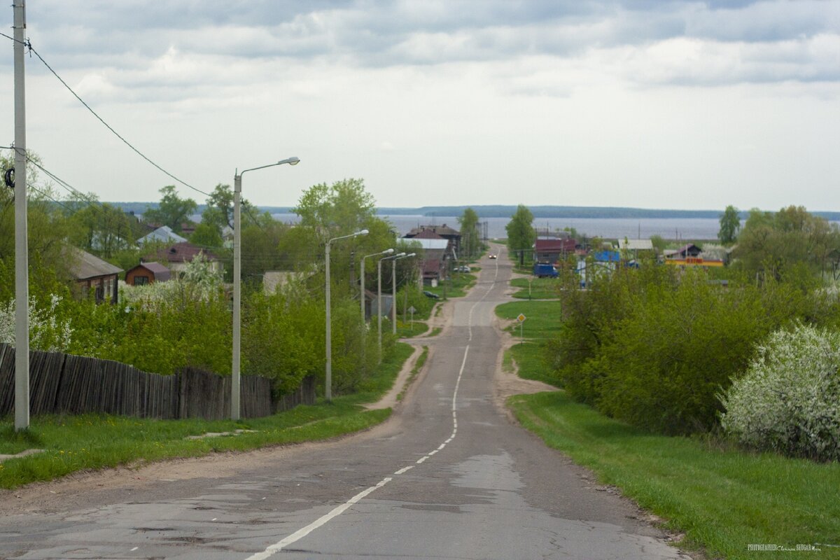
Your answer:
[[[549,363],[575,398],[667,434],[717,427],[717,393],[747,368],[756,343],[795,320],[826,322],[827,297],[794,282],[711,282],[704,270],[646,264],[561,293],[563,325]]]

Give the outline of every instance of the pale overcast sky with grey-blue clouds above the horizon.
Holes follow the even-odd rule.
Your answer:
[[[29,0],[26,35],[199,191],[299,157],[243,175],[260,206],[360,178],[381,207],[840,211],[840,2]],[[50,172],[102,201],[206,199],[25,64]]]

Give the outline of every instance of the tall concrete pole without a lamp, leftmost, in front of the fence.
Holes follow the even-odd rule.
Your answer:
[[[14,429],[29,427],[29,240],[26,229],[26,3],[14,0]]]

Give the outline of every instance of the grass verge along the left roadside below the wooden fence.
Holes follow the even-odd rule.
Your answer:
[[[0,463],[0,488],[57,479],[79,470],[117,467],[166,458],[246,451],[257,447],[310,442],[358,432],[386,420],[391,409],[365,411],[360,404],[378,400],[391,389],[412,348],[397,343],[375,375],[358,392],[298,406],[274,416],[241,421],[151,420],[125,416],[36,416],[28,431],[14,432],[13,421],[0,421],[0,453],[44,449],[45,453]],[[187,440],[207,432],[255,430],[238,436]]]

